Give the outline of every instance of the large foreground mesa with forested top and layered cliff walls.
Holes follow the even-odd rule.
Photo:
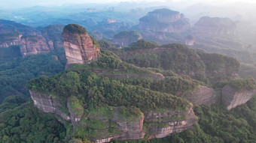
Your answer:
[[[135,68],[102,52],[92,64],[75,64],[75,69],[29,82],[35,106],[70,121],[75,136],[93,142],[163,138],[197,122],[187,100],[88,70],[102,65],[106,69]]]

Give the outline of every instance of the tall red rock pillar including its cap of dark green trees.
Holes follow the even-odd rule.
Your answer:
[[[67,64],[87,64],[99,56],[99,44],[81,25],[66,25],[62,32]]]

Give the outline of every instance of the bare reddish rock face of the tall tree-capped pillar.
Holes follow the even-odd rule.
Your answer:
[[[99,47],[93,45],[88,34],[72,34],[67,31],[62,33],[67,64],[87,64],[99,56]]]

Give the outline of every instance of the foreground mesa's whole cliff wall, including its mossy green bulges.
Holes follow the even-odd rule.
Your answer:
[[[35,91],[29,92],[38,109],[71,121],[76,132],[90,130],[95,134],[87,138],[96,143],[143,139],[147,130],[148,139],[163,138],[171,133],[187,130],[197,122],[191,104],[187,105],[182,112],[172,111],[172,109],[147,109],[142,112],[135,106],[106,106],[90,110],[85,114],[83,106],[75,97],[69,97],[67,103],[63,103],[63,99],[59,97],[38,94]],[[65,109],[65,106],[68,109]],[[63,111],[66,110],[69,112],[64,113]]]

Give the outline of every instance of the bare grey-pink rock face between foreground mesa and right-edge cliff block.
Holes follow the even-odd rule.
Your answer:
[[[190,94],[185,94],[184,97],[194,105],[211,106],[218,100],[218,95],[215,90],[201,85],[199,88],[194,89]]]

